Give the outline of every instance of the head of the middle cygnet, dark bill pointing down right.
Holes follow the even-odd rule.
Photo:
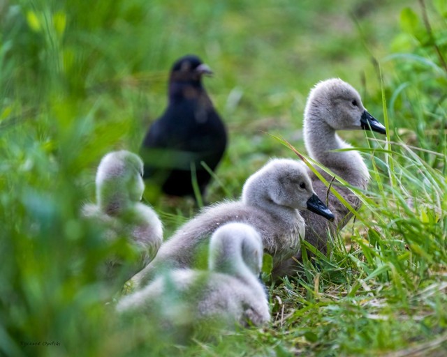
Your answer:
[[[303,162],[272,159],[251,175],[242,190],[242,202],[254,206],[274,204],[298,210],[309,209],[329,220],[334,215],[318,199]]]

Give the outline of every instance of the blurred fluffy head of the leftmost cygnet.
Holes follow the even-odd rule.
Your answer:
[[[112,151],[105,155],[96,172],[96,198],[106,213],[114,213],[132,202],[139,202],[145,184],[143,163],[130,151]]]

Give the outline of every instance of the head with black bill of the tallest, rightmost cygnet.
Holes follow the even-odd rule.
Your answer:
[[[307,98],[305,117],[323,120],[333,130],[365,129],[386,134],[386,128],[363,106],[358,91],[339,78],[314,86]]]

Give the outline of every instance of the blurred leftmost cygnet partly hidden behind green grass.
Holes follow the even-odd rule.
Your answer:
[[[140,202],[145,185],[143,163],[130,151],[112,151],[105,155],[96,172],[96,204],[82,207],[82,215],[104,229],[108,241],[124,237],[138,250],[140,262],[126,279],[145,266],[158,252],[163,241],[163,226],[152,208]],[[116,278],[122,264],[115,257],[108,261],[108,278]]]

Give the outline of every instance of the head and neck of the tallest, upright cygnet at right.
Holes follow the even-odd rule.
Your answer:
[[[342,79],[319,82],[309,93],[305,107],[305,146],[314,160],[321,162],[346,181],[366,188],[368,169],[357,151],[351,149],[337,130],[372,130],[386,134],[386,128],[369,114],[356,89]]]

